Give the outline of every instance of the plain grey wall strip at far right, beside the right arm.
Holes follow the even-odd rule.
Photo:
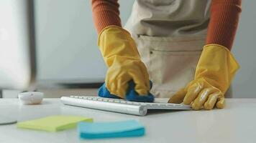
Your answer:
[[[243,0],[233,53],[240,69],[233,82],[234,97],[256,97],[256,1]]]

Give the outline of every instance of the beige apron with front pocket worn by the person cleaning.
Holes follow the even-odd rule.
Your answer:
[[[124,28],[137,43],[155,97],[171,97],[193,80],[206,40],[210,2],[134,1]]]

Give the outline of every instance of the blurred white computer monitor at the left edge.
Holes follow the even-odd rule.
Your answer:
[[[0,1],[0,89],[32,87],[35,82],[33,0]]]

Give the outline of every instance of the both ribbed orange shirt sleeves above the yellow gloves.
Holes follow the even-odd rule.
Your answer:
[[[122,26],[117,0],[91,0],[93,21],[98,33],[109,25]],[[212,0],[206,44],[232,48],[237,31],[241,0]]]

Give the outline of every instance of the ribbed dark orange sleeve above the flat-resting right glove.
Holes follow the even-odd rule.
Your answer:
[[[232,49],[240,12],[241,0],[212,0],[206,44],[219,44]]]

